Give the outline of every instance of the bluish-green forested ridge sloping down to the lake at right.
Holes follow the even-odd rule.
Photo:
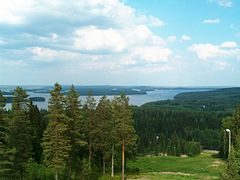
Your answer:
[[[180,93],[173,100],[150,102],[144,104],[142,107],[232,112],[239,104],[240,87],[233,87],[202,92]]]

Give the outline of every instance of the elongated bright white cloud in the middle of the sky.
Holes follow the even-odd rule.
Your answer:
[[[123,29],[84,27],[75,32],[74,38],[74,47],[86,51],[122,52],[136,46],[164,44],[164,40],[154,35],[145,25]]]

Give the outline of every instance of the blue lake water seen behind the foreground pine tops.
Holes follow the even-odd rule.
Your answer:
[[[139,94],[139,95],[128,95],[130,104],[141,106],[147,102],[152,101],[159,101],[159,100],[167,100],[173,99],[175,95],[183,92],[196,92],[196,91],[206,91],[209,89],[190,89],[190,88],[175,88],[175,89],[160,89],[154,91],[147,91],[147,94]],[[34,92],[27,92],[30,97],[44,97],[46,99],[45,102],[34,102],[40,109],[47,109],[48,107],[48,100],[50,98],[50,94],[48,93],[34,93]],[[94,96],[96,101],[98,102],[102,96]],[[108,98],[112,99],[114,96],[107,96]],[[80,96],[80,100],[82,103],[85,102],[86,96]],[[8,103],[6,105],[7,108],[11,108],[11,104]]]

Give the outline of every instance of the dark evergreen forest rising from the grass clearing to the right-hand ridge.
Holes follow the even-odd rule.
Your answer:
[[[200,147],[220,150],[223,156],[222,119],[231,116],[239,102],[240,88],[224,88],[135,107],[138,152],[194,155]]]

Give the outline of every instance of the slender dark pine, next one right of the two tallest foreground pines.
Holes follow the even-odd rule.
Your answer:
[[[87,135],[88,142],[88,163],[91,166],[92,161],[92,152],[93,152],[93,128],[95,126],[94,122],[96,119],[95,115],[96,109],[96,100],[93,97],[91,91],[89,91],[88,96],[86,98],[86,102],[84,104],[84,122],[83,122],[83,132]]]

